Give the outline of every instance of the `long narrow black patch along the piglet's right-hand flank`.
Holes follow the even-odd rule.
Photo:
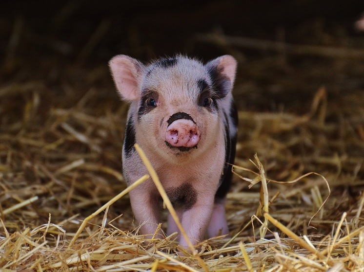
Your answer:
[[[225,198],[231,186],[233,173],[231,172],[232,165],[235,161],[236,153],[236,137],[230,136],[229,123],[226,114],[225,116],[225,165],[223,175],[220,178],[220,186],[215,194],[215,202],[219,202]]]

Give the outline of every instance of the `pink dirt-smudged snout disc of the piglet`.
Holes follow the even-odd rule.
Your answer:
[[[200,141],[199,127],[191,120],[178,119],[173,121],[165,132],[165,140],[176,147],[194,147]]]

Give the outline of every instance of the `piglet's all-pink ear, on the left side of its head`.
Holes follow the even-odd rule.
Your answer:
[[[121,98],[129,102],[139,99],[144,65],[130,56],[116,55],[109,66]]]

